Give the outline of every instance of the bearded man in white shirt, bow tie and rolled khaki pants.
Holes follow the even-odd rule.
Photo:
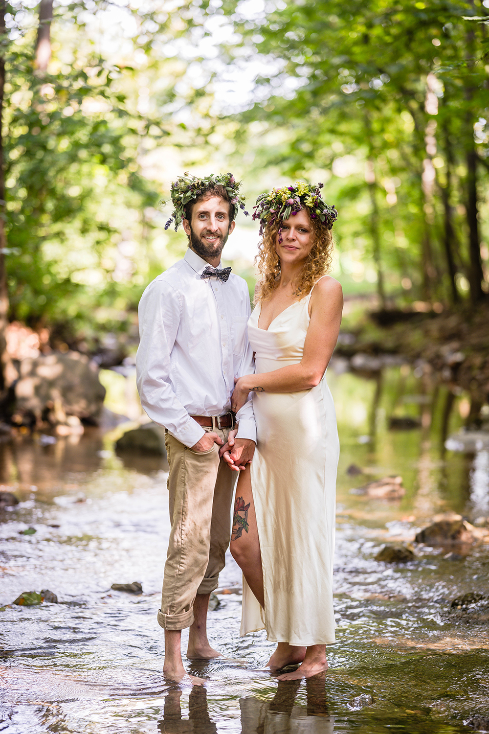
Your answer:
[[[185,173],[172,184],[175,208],[166,228],[172,219],[176,230],[183,222],[188,250],[139,303],[139,395],[150,418],[166,427],[169,460],[172,531],[158,623],[165,630],[163,672],[172,680],[185,675],[184,628],[188,658],[220,654],[207,641],[207,606],[229,546],[235,479],[256,443],[251,401],[236,415],[236,437],[231,413],[235,377],[254,371],[248,288],[230,268],[219,268],[238,206],[244,208],[239,185],[230,173]]]

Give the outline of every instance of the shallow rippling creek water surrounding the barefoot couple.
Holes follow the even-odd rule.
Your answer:
[[[446,448],[468,397],[408,365],[370,377],[334,367],[338,628],[326,676],[278,683],[265,669],[274,647],[265,633],[238,636],[240,573],[229,556],[208,617],[224,657],[188,663],[202,688],[166,681],[155,616],[169,532],[164,461],[117,457],[114,436],[98,429],[48,446],[18,436],[0,445],[2,489],[21,499],[0,523],[1,732],[448,734],[489,716],[487,623],[449,611],[457,595],[489,595],[489,545],[452,559],[418,545],[411,562],[375,561],[384,542],[413,539],[436,512],[489,515],[487,449]],[[389,429],[393,417],[419,426]],[[398,501],[351,492],[391,474],[406,489]],[[132,581],[142,595],[111,590]],[[12,605],[40,589],[59,603]]]

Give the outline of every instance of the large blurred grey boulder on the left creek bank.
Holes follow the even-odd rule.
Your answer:
[[[15,385],[15,411],[24,421],[48,419],[65,424],[68,416],[97,424],[106,389],[98,366],[79,352],[45,355],[21,361]]]

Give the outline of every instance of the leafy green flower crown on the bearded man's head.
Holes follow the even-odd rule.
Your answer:
[[[229,201],[235,208],[235,217],[239,209],[244,209],[245,197],[238,193],[241,182],[235,181],[232,173],[222,173],[217,176],[211,173],[204,178],[197,178],[196,176],[190,175],[188,171],[185,171],[183,176],[177,178],[177,181],[172,181],[171,196],[174,211],[168,222],[166,222],[165,229],[168,229],[172,222],[174,222],[176,232],[182,219],[185,219],[185,206],[187,206],[188,202],[204,194],[213,186],[224,186],[229,196]],[[245,211],[245,214],[248,216],[247,211]]]

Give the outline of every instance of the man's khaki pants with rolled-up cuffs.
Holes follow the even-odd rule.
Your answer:
[[[227,441],[229,428],[216,429]],[[205,431],[212,431],[211,428]],[[166,556],[158,624],[183,630],[194,622],[196,594],[218,587],[231,537],[231,502],[237,473],[219,459],[219,446],[197,454],[166,432],[172,531]]]

